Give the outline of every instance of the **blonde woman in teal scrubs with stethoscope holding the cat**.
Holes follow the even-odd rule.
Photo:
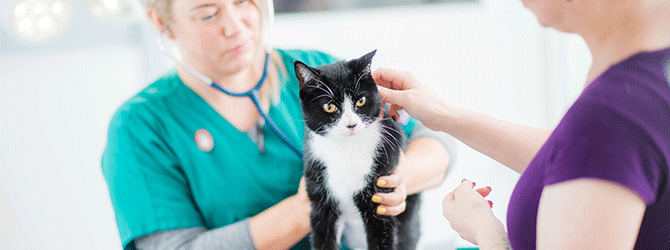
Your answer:
[[[272,1],[147,1],[148,16],[177,45],[182,63],[231,91],[256,85],[269,52],[262,108],[302,147],[293,62],[337,59],[271,49]],[[396,189],[370,201],[384,215],[402,213],[407,194],[439,185],[450,162],[444,134],[413,119],[404,129],[411,142],[401,165],[378,181]],[[102,157],[124,249],[309,249],[302,167],[249,98],[225,95],[181,66],[121,105]]]

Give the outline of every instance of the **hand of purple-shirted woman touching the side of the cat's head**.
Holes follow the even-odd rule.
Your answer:
[[[390,102],[389,115],[398,119],[398,110],[404,109],[412,117],[432,130],[445,131],[440,117],[447,114],[451,105],[428,86],[407,71],[379,68],[372,73],[378,85],[382,105]]]

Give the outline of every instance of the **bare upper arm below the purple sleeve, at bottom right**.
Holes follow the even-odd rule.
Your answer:
[[[577,179],[545,187],[538,249],[633,249],[646,205],[618,184]]]

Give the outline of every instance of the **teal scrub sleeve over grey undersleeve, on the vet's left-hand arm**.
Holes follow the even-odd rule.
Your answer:
[[[119,111],[109,126],[102,171],[124,249],[163,230],[205,227],[186,177],[156,118]],[[144,115],[140,115],[140,114]]]

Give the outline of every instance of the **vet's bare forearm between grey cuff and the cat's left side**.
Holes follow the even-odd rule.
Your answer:
[[[250,231],[258,249],[288,249],[310,231],[309,201],[291,196],[251,218]]]

